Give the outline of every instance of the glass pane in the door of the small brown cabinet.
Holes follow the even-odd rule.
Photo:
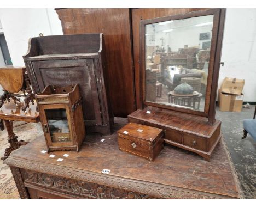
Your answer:
[[[45,109],[52,142],[69,142],[70,132],[66,109]]]

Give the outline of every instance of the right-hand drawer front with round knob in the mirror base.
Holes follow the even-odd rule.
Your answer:
[[[183,134],[183,144],[197,150],[207,151],[207,140],[190,134]]]

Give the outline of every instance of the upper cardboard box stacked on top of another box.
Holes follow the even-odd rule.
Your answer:
[[[223,93],[241,95],[243,86],[245,85],[245,79],[229,78],[226,77],[220,87],[220,91]]]

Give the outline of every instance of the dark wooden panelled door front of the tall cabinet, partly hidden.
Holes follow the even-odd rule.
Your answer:
[[[100,103],[97,88],[97,73],[95,73],[93,59],[74,59],[74,60],[44,60],[31,62],[34,76],[37,78],[37,84],[34,91],[39,93],[49,85],[67,85],[79,84],[80,93],[83,100],[82,108],[85,125],[102,125],[102,106]],[[100,112],[100,113],[95,113]]]

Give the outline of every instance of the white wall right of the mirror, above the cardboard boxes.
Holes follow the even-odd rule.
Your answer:
[[[227,9],[219,87],[225,77],[245,79],[243,101],[256,102],[256,9]]]

